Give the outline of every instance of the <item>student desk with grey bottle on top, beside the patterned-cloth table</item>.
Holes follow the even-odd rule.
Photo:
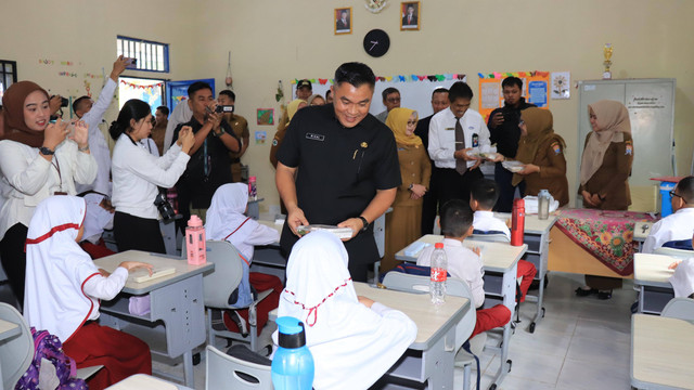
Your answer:
[[[511,219],[511,213],[494,212],[494,217],[506,221]],[[535,318],[528,327],[528,332],[534,333],[535,326],[542,317],[544,317],[544,308],[542,302],[544,300],[544,276],[547,275],[548,257],[550,250],[550,230],[554,226],[554,223],[558,219],[558,213],[551,213],[545,220],[538,218],[538,214],[525,216],[525,234],[523,242],[528,245],[528,250],[524,256],[524,260],[531,262],[537,269],[538,273],[535,275],[535,280],[539,283],[538,295],[526,295],[527,301],[536,302],[538,311],[535,314]]]

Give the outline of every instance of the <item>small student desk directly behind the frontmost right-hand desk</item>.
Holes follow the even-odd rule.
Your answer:
[[[668,265],[676,260],[665,255],[634,255],[633,283],[640,288],[639,313],[660,314],[670,299],[674,298],[668,281],[674,271],[668,270]]]

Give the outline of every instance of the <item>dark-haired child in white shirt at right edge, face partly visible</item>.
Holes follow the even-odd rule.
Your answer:
[[[670,192],[673,213],[653,224],[643,243],[643,252],[653,251],[673,240],[692,238],[694,234],[694,177],[686,177]]]

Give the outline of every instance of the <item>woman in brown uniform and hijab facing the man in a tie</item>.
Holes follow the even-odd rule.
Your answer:
[[[512,184],[517,186],[525,180],[524,195],[537,196],[540,190],[548,190],[560,206],[564,206],[568,204],[566,143],[554,133],[553,122],[548,109],[531,107],[522,112],[516,159],[524,162],[525,168],[513,176]]]

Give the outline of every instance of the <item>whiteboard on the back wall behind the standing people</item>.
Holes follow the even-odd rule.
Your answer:
[[[373,102],[371,103],[371,108],[369,112],[373,115],[377,115],[383,113],[386,107],[383,105],[383,98],[381,96],[381,92],[386,88],[393,87],[400,91],[400,107],[411,108],[417,112],[420,118],[427,117],[434,114],[432,109],[432,92],[434,92],[437,88],[451,88],[453,82],[459,81],[454,80],[442,80],[442,81],[376,81],[373,91]],[[466,81],[466,79],[463,79]],[[321,86],[318,82],[313,82],[311,84],[311,89],[313,93],[320,93],[322,96],[325,96],[325,92],[330,89],[331,83],[326,82]],[[296,83],[292,84],[292,99],[296,99]],[[291,101],[290,100],[290,101]],[[473,99],[474,101],[474,99]]]

